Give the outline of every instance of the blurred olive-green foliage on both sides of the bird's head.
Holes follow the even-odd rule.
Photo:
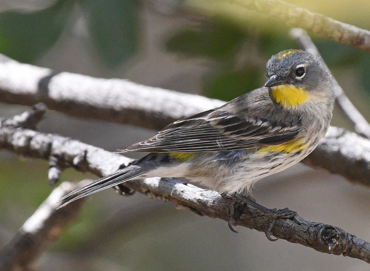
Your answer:
[[[296,48],[289,37],[289,27],[263,15],[251,14],[243,20],[246,25],[215,17],[212,23],[184,27],[166,40],[168,51],[183,57],[207,58],[214,64],[215,69],[205,80],[203,95],[229,101],[262,86],[267,60],[281,50]],[[369,53],[320,38],[313,37],[313,41],[331,69],[357,70],[360,84],[370,95]],[[256,51],[262,61],[253,62]]]

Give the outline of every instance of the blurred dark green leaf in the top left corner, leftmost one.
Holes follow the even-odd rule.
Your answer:
[[[58,1],[32,13],[6,11],[0,14],[0,52],[32,63],[57,41],[70,16],[73,1]]]

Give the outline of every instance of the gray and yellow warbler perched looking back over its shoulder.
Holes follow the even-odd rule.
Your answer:
[[[146,177],[187,177],[219,193],[240,193],[306,157],[332,119],[334,89],[319,58],[302,50],[271,57],[263,87],[183,118],[123,151],[145,157],[81,187],[65,204]]]

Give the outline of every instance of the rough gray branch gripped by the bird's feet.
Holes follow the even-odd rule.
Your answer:
[[[353,133],[350,135],[357,136]],[[366,147],[370,151],[369,144]],[[48,159],[48,155],[57,155],[75,168],[87,170],[99,176],[112,173],[121,164],[127,164],[130,161],[122,155],[110,153],[77,140],[6,125],[0,127],[0,148],[34,158]],[[74,158],[80,153],[86,154],[83,168],[79,168],[79,165],[74,163]],[[369,173],[367,175],[369,176]],[[221,195],[194,185],[182,184],[176,178],[147,178],[129,181],[125,185],[150,197],[173,201],[196,214],[229,220],[228,204]],[[302,244],[320,252],[342,254],[370,262],[370,243],[338,227],[310,222],[299,216],[277,219],[271,213],[264,213],[238,200],[233,203],[233,207],[235,225],[261,232],[270,230],[275,237]],[[4,251],[9,250],[10,248]],[[3,252],[0,259],[6,255]]]

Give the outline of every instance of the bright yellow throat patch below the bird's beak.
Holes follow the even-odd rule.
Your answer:
[[[276,103],[284,107],[295,107],[305,103],[309,98],[306,90],[292,85],[271,87],[271,93]]]

